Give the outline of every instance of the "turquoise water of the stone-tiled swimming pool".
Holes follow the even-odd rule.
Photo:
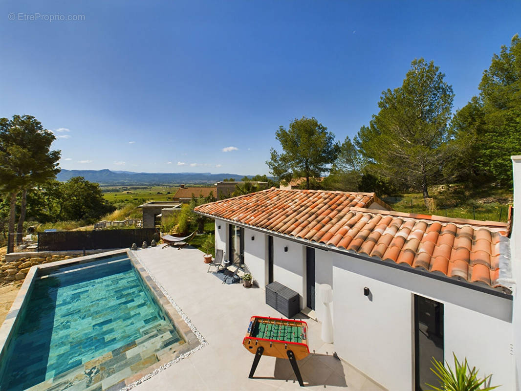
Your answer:
[[[124,258],[61,268],[33,283],[2,357],[0,390],[26,389],[114,352],[154,329],[168,336],[163,348],[180,340],[130,260]]]

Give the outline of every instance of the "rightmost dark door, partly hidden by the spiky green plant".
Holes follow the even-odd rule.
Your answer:
[[[416,391],[439,387],[430,370],[432,358],[443,362],[443,304],[414,296],[414,378]]]

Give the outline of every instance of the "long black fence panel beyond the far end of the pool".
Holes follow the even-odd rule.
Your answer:
[[[158,239],[155,228],[38,233],[38,251],[118,249]]]

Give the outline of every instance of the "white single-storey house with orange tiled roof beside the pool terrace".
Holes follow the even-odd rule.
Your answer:
[[[517,186],[521,157],[514,162]],[[382,386],[437,385],[430,359],[452,363],[454,353],[492,374],[491,385],[519,390],[521,241],[508,237],[511,226],[387,211],[377,201],[272,188],[196,212],[215,218],[226,260],[261,288],[276,281],[298,292],[301,310],[318,321],[325,308],[315,292],[330,285],[338,356]],[[519,212],[513,233],[521,233]]]

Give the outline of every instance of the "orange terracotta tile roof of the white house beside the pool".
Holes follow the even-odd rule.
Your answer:
[[[505,223],[368,209],[374,193],[271,188],[195,210],[384,261],[498,286]]]

